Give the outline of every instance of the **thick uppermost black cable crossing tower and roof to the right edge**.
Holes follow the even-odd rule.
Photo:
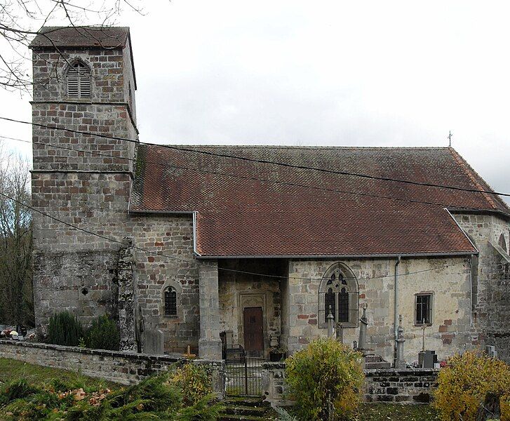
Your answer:
[[[9,119],[7,117],[0,116],[0,119],[5,121],[12,121],[14,123],[22,123],[22,124],[29,124],[31,126],[41,127],[41,128],[49,128],[53,130],[61,130],[61,131],[67,131],[69,133],[77,133],[81,135],[90,135],[90,136],[96,136],[98,138],[105,138],[105,139],[112,139],[112,140],[121,140],[124,142],[132,142],[135,144],[141,144],[141,145],[149,145],[149,146],[156,146],[156,147],[163,147],[166,149],[173,149],[180,152],[192,152],[195,154],[203,154],[203,155],[209,155],[209,156],[218,156],[222,158],[230,158],[230,159],[238,159],[241,161],[250,161],[254,163],[267,163],[275,166],[283,166],[287,168],[297,168],[301,170],[309,170],[309,171],[318,171],[321,173],[329,173],[329,174],[337,174],[337,175],[351,175],[354,177],[360,177],[360,178],[368,178],[370,180],[383,180],[383,181],[391,181],[391,182],[401,182],[405,184],[410,185],[420,185],[425,187],[438,187],[441,189],[452,189],[452,190],[459,190],[462,192],[471,192],[471,193],[485,193],[485,194],[492,194],[492,195],[499,195],[499,196],[506,196],[510,197],[510,193],[502,193],[502,192],[494,192],[492,190],[484,190],[484,189],[467,189],[464,187],[456,187],[456,186],[449,186],[449,185],[439,185],[435,183],[429,183],[429,182],[417,182],[412,180],[401,180],[398,178],[389,178],[389,177],[377,177],[375,175],[368,175],[368,174],[361,174],[361,173],[351,173],[348,171],[337,171],[337,170],[328,170],[326,168],[316,168],[316,167],[309,167],[309,166],[301,166],[301,165],[295,165],[292,163],[285,163],[285,162],[278,162],[278,161],[269,161],[266,159],[254,159],[254,158],[248,158],[247,156],[236,156],[236,155],[230,155],[230,154],[220,154],[218,152],[210,152],[210,151],[203,151],[199,149],[193,149],[190,147],[180,147],[180,146],[174,146],[174,145],[159,145],[156,143],[149,143],[149,142],[140,142],[138,140],[128,139],[128,138],[117,138],[115,136],[108,136],[108,135],[102,135],[100,133],[90,133],[86,131],[78,131],[70,128],[64,128],[59,126],[48,126],[47,124],[41,124],[41,123],[34,123],[33,121],[22,121],[17,119]]]

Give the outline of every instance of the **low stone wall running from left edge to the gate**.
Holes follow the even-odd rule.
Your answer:
[[[147,375],[168,370],[175,363],[184,363],[184,358],[166,355],[136,354],[130,352],[107,351],[63,347],[15,340],[0,340],[0,356],[64,370],[78,371],[83,375],[97,377],[122,385],[133,385]],[[195,364],[205,364],[211,375],[213,388],[224,396],[224,362],[193,360]]]

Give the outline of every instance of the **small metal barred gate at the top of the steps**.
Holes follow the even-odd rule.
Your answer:
[[[239,356],[225,360],[228,396],[262,396],[263,358]]]

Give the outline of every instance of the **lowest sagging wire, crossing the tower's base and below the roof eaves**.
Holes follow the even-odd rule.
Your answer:
[[[78,227],[76,225],[70,224],[69,222],[61,220],[60,218],[55,218],[54,216],[49,215],[48,213],[43,212],[42,210],[33,208],[32,206],[29,206],[26,203],[23,203],[22,201],[14,199],[13,197],[8,196],[7,194],[4,194],[2,192],[0,192],[0,196],[4,197],[5,199],[8,199],[10,201],[13,201],[15,203],[18,203],[21,206],[25,206],[25,208],[33,210],[34,212],[39,213],[40,215],[43,215],[43,216],[45,216],[47,218],[50,218],[51,220],[54,220],[56,222],[60,222],[60,224],[65,225],[65,226],[69,227],[70,229],[76,229],[78,231],[85,232],[86,234],[90,234],[92,236],[97,236],[100,239],[104,239],[104,240],[107,240],[107,241],[110,241],[110,242],[113,242],[113,243],[123,244],[123,241],[120,241],[118,239],[114,239],[112,237],[105,236],[103,234],[98,234],[97,232],[90,231],[89,229],[84,229],[84,228]],[[187,260],[187,259],[183,259],[183,258],[176,258],[175,256],[166,255],[166,254],[160,253],[157,250],[156,251],[147,250],[146,248],[138,247],[138,246],[135,246],[134,244],[133,244],[133,249],[142,251],[143,253],[154,254],[154,255],[157,255],[157,256],[161,256],[163,258],[168,258],[170,260],[176,260],[178,262],[191,263],[192,265],[196,264],[196,260]],[[327,256],[325,256],[325,258],[327,258]],[[450,264],[450,265],[442,265],[442,266],[438,266],[438,267],[432,267],[430,269],[422,269],[422,270],[419,270],[419,271],[416,271],[416,272],[407,272],[405,274],[397,274],[396,276],[408,276],[408,275],[412,275],[412,274],[420,274],[420,273],[423,273],[423,272],[431,272],[433,270],[445,269],[446,267],[450,267],[450,266],[454,266],[454,265],[452,265],[452,264]],[[270,274],[263,274],[263,273],[257,273],[257,272],[243,271],[243,270],[239,270],[239,269],[230,269],[230,268],[227,268],[227,267],[220,267],[219,265],[217,266],[217,269],[218,270],[223,270],[223,271],[226,271],[226,272],[235,272],[235,273],[241,273],[241,274],[256,275],[256,276],[262,276],[262,277],[265,277],[265,278],[274,278],[274,279],[309,279],[311,281],[323,281],[323,279],[324,279],[324,278],[310,278],[310,277],[303,277],[303,276],[270,275]],[[393,278],[394,276],[395,276],[394,274],[393,275],[386,275],[386,276],[368,276],[368,277],[359,278],[359,279],[360,280],[363,279],[363,281],[365,281],[365,280],[368,280],[368,279]],[[356,278],[356,276],[350,276],[350,277],[348,276],[348,277],[346,277],[344,279],[357,279],[357,278]]]

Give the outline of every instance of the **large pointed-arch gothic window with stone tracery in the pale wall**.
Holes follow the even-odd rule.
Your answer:
[[[323,276],[318,290],[319,327],[327,328],[329,312],[345,327],[358,326],[358,281],[351,270],[337,262]]]

